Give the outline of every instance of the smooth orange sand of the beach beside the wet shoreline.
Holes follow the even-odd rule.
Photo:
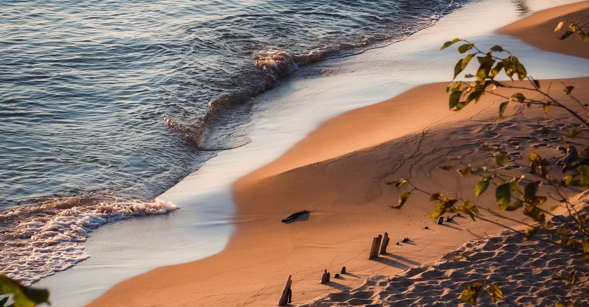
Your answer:
[[[538,12],[500,32],[548,51],[589,58],[587,43],[560,46],[554,42],[554,25],[561,19],[589,19],[589,1]],[[574,85],[577,98],[589,100],[589,78],[544,80],[542,84],[561,82]],[[428,279],[423,272],[431,272],[432,263],[439,265],[441,256],[471,239],[494,235],[504,228],[468,218],[436,225],[428,217],[434,203],[425,195],[414,195],[402,209],[392,209],[399,192],[388,182],[406,178],[426,191],[461,195],[493,209],[492,193],[474,196],[475,178],[465,180],[438,166],[457,156],[467,163],[481,161],[492,156],[489,147],[509,152],[521,165],[527,164],[531,151],[559,156],[556,138],[576,127],[560,124],[558,118],[564,115],[556,110],[545,118],[541,109],[518,106],[497,122],[498,105],[503,101],[490,95],[461,112],[451,112],[447,85],[418,86],[325,122],[279,159],[234,183],[237,229],[222,252],[128,279],[90,306],[274,306],[289,275],[293,279],[293,305],[316,301],[317,305],[389,305],[386,302],[402,300],[395,297],[387,301],[393,291],[385,289],[390,284],[388,278],[418,268],[409,270],[409,274]],[[551,94],[567,99],[558,86]],[[532,138],[519,138],[528,135]],[[522,172],[521,166],[505,171]],[[290,224],[280,222],[302,210],[311,213]],[[488,214],[485,217],[497,219]],[[373,236],[384,232],[391,237],[388,253],[368,260]],[[403,238],[410,240],[397,245]],[[487,241],[471,245],[488,244],[488,239],[482,240]],[[509,240],[497,239],[494,248],[513,244]],[[477,249],[472,246],[468,251]],[[324,269],[333,276],[342,266],[348,273],[325,285],[319,283]],[[451,278],[452,273],[444,276]],[[434,275],[429,279],[442,279]],[[372,288],[367,291],[367,287]],[[360,292],[364,294],[349,294]],[[448,303],[459,293],[445,295]]]

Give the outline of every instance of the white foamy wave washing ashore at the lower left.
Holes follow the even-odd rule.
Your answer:
[[[76,201],[77,200],[77,201]],[[73,204],[73,205],[72,205]],[[31,285],[90,255],[80,242],[106,223],[178,209],[174,203],[65,197],[0,212],[0,272]]]

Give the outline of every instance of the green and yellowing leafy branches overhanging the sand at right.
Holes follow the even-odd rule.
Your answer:
[[[587,31],[589,23],[579,24],[571,21],[563,21],[557,25],[555,32],[559,31],[563,26],[567,26],[568,30],[560,35],[560,39],[577,35],[582,41],[589,41],[589,31]],[[472,42],[455,38],[452,41],[445,42],[440,49],[443,50],[459,42],[462,42],[457,48],[459,54],[466,55],[456,62],[452,83],[446,88],[446,92],[449,94],[448,106],[452,111],[460,111],[465,106],[471,104],[471,102],[476,104],[482,95],[489,94],[505,99],[505,101],[499,104],[498,120],[501,120],[509,104],[519,104],[528,108],[531,106],[540,106],[544,111],[544,116],[547,116],[549,109],[554,107],[565,111],[565,114],[570,115],[571,119],[574,119],[574,121],[580,124],[580,127],[589,128],[589,108],[587,108],[589,104],[584,104],[580,99],[573,96],[574,86],[562,84],[562,91],[568,97],[567,101],[573,102],[573,105],[570,105],[566,101],[557,99],[551,94],[551,85],[546,89],[542,88],[540,81],[528,76],[525,66],[519,61],[517,56],[512,55],[501,46],[492,46],[487,52],[484,52]],[[478,62],[475,74],[465,75],[466,79],[473,80],[471,82],[455,81],[456,77],[464,72],[468,65],[474,62],[472,60],[475,58]],[[503,74],[508,77],[509,81],[500,81],[498,79],[498,76],[502,76]],[[497,91],[498,88],[503,88],[506,91]],[[509,91],[511,91],[510,94],[505,94],[505,92]],[[524,95],[524,93],[528,92],[535,94],[537,97],[531,98],[531,95]],[[562,138],[560,140],[562,144],[567,144],[567,142],[569,144],[566,148],[565,157],[557,162],[562,172],[561,176],[552,175],[551,159],[542,158],[536,152],[531,152],[528,159],[530,162],[529,173],[535,174],[531,178],[525,174],[511,176],[500,171],[501,168],[504,168],[509,163],[521,166],[515,161],[517,157],[514,158],[507,152],[494,153],[494,168],[488,166],[471,166],[462,162],[461,158],[451,159],[449,165],[443,165],[440,168],[448,171],[458,166],[457,172],[459,175],[464,177],[478,176],[478,182],[474,186],[474,194],[477,197],[487,192],[489,187],[493,185],[498,211],[487,208],[482,209],[495,218],[501,218],[511,223],[527,226],[527,229],[523,233],[522,241],[538,239],[551,245],[562,246],[563,248],[577,252],[578,259],[589,264],[587,209],[576,208],[565,192],[571,188],[589,188],[589,147],[586,146],[587,142],[585,138],[578,139],[579,136],[583,136],[582,134],[583,131],[578,128],[569,129],[567,133],[561,134]],[[577,138],[575,142],[570,142],[570,139],[574,138]],[[584,146],[583,151],[577,154],[577,149],[574,145]],[[442,193],[424,191],[418,186],[412,185],[406,179],[392,181],[389,184],[399,189],[405,189],[405,192],[402,192],[399,196],[398,203],[391,206],[391,208],[402,208],[408,201],[409,196],[414,191],[417,191],[428,195],[430,201],[435,203],[434,211],[430,215],[431,218],[439,218],[444,213],[462,212],[469,215],[473,220],[481,219],[482,221],[491,222],[515,231],[514,228],[505,225],[505,223],[493,221],[482,216],[480,213],[481,208],[468,199],[446,197]],[[540,191],[545,190],[542,186],[555,191],[556,195],[561,198],[561,205],[557,204],[548,209],[542,208],[542,205],[548,199],[547,195],[540,195]],[[564,217],[552,213],[559,206],[566,209],[568,216]],[[508,211],[519,210],[521,210],[525,218],[531,219],[534,224],[532,225],[531,223],[514,219],[504,214]],[[548,233],[550,236],[535,236],[539,231]],[[581,282],[575,274],[576,272],[570,273],[562,279],[567,282],[567,285],[570,285],[570,298],[571,300],[573,299],[573,290],[576,289],[576,291],[583,293],[583,298],[589,303],[587,296],[585,296],[585,294],[589,294],[589,292],[585,291],[588,280]],[[497,286],[492,285],[489,281],[477,281],[466,286],[462,292],[462,300],[466,303],[475,304],[479,292],[485,286],[494,302],[503,299],[501,289]],[[564,306],[562,303],[558,303],[557,305]]]

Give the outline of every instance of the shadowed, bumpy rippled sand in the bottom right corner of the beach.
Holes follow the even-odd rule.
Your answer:
[[[570,286],[562,276],[576,271],[578,281],[586,281],[589,268],[578,260],[580,253],[542,241],[554,234],[545,231],[527,242],[522,242],[521,232],[514,231],[474,239],[433,264],[397,276],[373,276],[359,288],[330,293],[303,306],[469,306],[462,302],[461,292],[479,280],[501,288],[505,301],[499,306],[568,302]],[[574,301],[589,304],[580,292],[572,292]],[[482,290],[477,306],[496,305]]]

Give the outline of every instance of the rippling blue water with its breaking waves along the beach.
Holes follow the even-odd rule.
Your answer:
[[[178,209],[155,196],[249,142],[253,96],[465,2],[2,1],[0,272],[38,281],[93,229]]]

